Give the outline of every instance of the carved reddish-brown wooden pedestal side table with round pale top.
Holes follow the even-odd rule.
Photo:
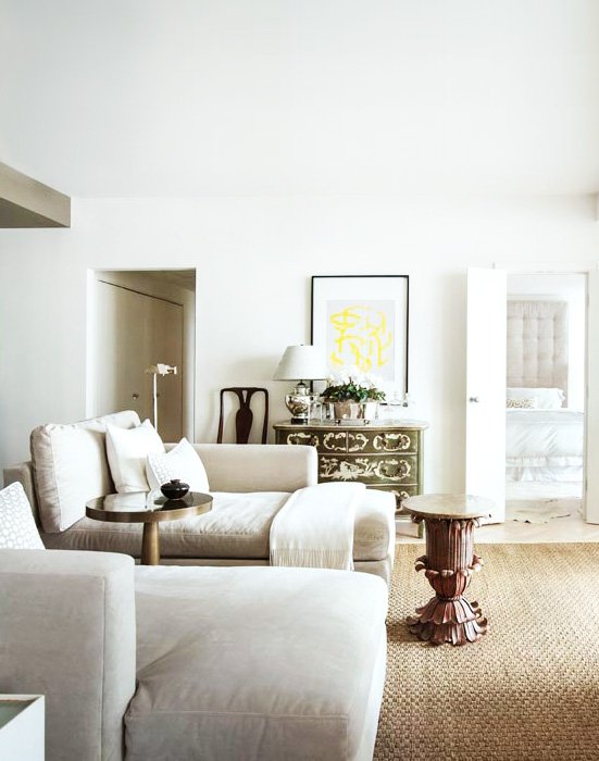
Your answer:
[[[426,526],[426,554],[416,559],[435,597],[408,619],[412,634],[432,645],[465,645],[487,632],[478,602],[463,596],[472,573],[483,564],[474,552],[473,533],[481,517],[489,517],[490,499],[472,495],[420,495],[403,502],[414,523]]]

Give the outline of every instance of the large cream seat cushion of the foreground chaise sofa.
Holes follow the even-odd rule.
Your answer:
[[[136,607],[130,761],[372,758],[386,641],[378,577],[142,567]]]

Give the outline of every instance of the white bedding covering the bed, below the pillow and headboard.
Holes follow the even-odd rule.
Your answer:
[[[579,481],[584,413],[577,410],[506,410],[508,481]]]

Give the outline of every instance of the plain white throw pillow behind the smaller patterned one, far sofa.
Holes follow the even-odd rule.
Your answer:
[[[162,439],[149,420],[137,428],[107,424],[107,457],[118,494],[148,491],[146,460],[150,453],[163,452]]]

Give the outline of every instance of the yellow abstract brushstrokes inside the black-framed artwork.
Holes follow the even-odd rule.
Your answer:
[[[392,319],[386,305],[388,302],[376,307],[348,304],[329,314],[333,366],[357,365],[364,373],[392,371]]]

